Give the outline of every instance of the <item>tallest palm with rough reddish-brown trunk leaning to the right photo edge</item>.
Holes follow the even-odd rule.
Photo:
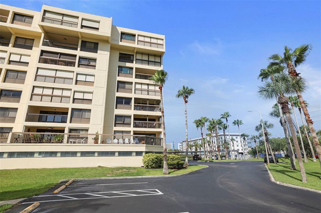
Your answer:
[[[291,50],[291,48],[285,46],[284,47],[284,53],[283,57],[279,54],[273,54],[269,57],[269,59],[272,60],[271,64],[283,64],[284,66],[288,67],[288,73],[292,77],[293,80],[301,78],[299,76],[300,73],[297,73],[295,67],[298,67],[299,65],[304,64],[305,60],[307,59],[310,50],[312,50],[312,46],[310,44],[303,44],[299,47],[297,47],[294,51]],[[292,52],[291,52],[292,51]],[[317,154],[321,156],[321,145],[319,143],[316,130],[313,127],[313,121],[310,118],[310,114],[308,113],[308,108],[305,105],[304,99],[301,95],[300,88],[295,88],[295,91],[298,95],[298,99],[300,102],[300,105],[302,107],[303,113],[305,115],[305,120],[308,124],[308,127],[311,132],[311,136],[313,139],[314,146],[316,148]],[[321,158],[319,158],[320,167],[321,167]]]

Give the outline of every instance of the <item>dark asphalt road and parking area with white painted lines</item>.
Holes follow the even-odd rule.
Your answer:
[[[32,213],[321,212],[319,193],[272,183],[262,162],[190,163],[209,168],[181,177],[75,181],[52,196],[60,184],[8,212],[35,201],[42,202]]]

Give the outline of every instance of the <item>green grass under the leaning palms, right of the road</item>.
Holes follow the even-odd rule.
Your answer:
[[[282,161],[284,162],[281,163]],[[308,177],[308,183],[302,183],[301,181],[298,161],[296,162],[298,169],[296,171],[290,170],[291,164],[289,158],[279,158],[280,163],[277,165],[270,163],[268,168],[276,181],[321,190],[320,163],[318,161],[313,162],[311,158],[309,158],[308,161],[308,163],[303,163]]]

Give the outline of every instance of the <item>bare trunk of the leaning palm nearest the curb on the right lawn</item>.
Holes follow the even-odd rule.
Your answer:
[[[300,147],[299,147],[299,143],[298,143],[298,138],[297,137],[293,137],[293,135],[295,136],[296,134],[295,134],[293,121],[292,121],[292,118],[291,118],[291,115],[290,115],[290,109],[289,109],[289,106],[288,106],[288,102],[289,102],[289,99],[287,97],[285,97],[282,94],[279,96],[278,103],[281,104],[282,112],[285,114],[285,116],[288,119],[289,126],[290,126],[290,131],[292,133],[293,144],[294,144],[295,152],[297,153],[297,158],[298,158],[298,162],[299,162],[302,182],[303,183],[307,183],[308,179],[307,179],[307,174],[305,173],[305,169],[304,169],[304,166],[303,166],[303,161],[302,161],[302,157],[301,157],[301,151],[300,151]]]

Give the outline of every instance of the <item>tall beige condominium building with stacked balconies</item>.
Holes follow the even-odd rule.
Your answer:
[[[161,152],[148,79],[164,53],[164,35],[112,18],[0,4],[0,169],[140,166]]]

